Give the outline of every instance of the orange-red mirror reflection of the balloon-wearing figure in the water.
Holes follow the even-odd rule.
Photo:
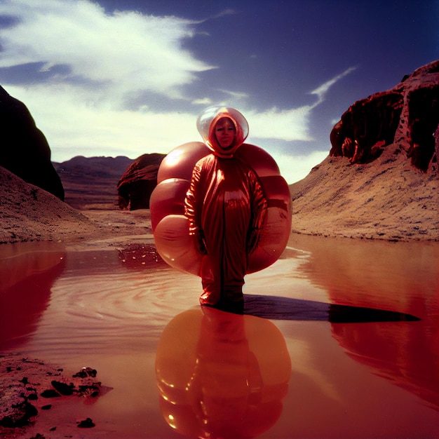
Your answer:
[[[291,363],[269,320],[205,308],[177,315],[158,342],[161,412],[183,435],[252,438],[276,424]]]

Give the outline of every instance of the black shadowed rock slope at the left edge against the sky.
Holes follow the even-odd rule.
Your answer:
[[[29,110],[0,86],[0,166],[25,182],[64,200],[64,188],[50,161],[50,147]]]

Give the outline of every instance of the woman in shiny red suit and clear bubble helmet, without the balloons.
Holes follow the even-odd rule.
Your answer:
[[[198,117],[197,128],[212,150],[196,163],[185,199],[189,233],[205,255],[200,303],[241,312],[248,255],[259,240],[266,197],[252,168],[234,156],[248,135],[244,116],[215,107]]]

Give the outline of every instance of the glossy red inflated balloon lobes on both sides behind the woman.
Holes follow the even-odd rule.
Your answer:
[[[182,219],[184,196],[189,188],[196,162],[210,152],[201,142],[189,142],[173,149],[158,169],[158,184],[149,203],[158,253],[175,268],[196,274],[198,271],[194,267],[199,268],[201,255],[196,252],[191,239],[185,236],[189,234],[189,225],[187,222],[183,224]],[[255,170],[268,202],[268,212],[259,245],[248,260],[247,273],[252,273],[273,264],[287,245],[291,230],[290,190],[279,173],[276,161],[264,149],[242,144],[234,157]],[[167,219],[166,227],[165,224],[158,227],[163,219]],[[170,236],[173,229],[175,233]],[[189,245],[186,254],[182,252],[184,245]]]

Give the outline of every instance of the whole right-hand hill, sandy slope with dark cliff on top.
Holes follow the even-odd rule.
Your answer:
[[[438,241],[439,61],[353,104],[332,149],[290,186],[292,230]]]

